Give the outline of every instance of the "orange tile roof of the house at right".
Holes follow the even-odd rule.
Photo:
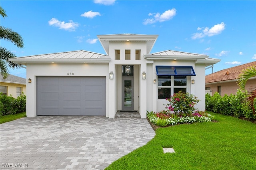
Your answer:
[[[246,69],[251,66],[256,67],[256,61],[238,65],[238,66],[231,67],[228,69],[223,69],[223,70],[217,71],[215,73],[206,75],[205,83],[214,83],[214,82],[238,79],[238,76],[241,74],[241,71],[243,69]]]

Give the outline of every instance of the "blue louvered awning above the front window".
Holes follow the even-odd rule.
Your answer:
[[[156,75],[195,76],[196,73],[192,66],[156,65]]]

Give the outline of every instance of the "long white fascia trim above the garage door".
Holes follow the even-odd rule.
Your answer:
[[[11,58],[10,61],[15,63],[109,63],[110,58],[101,59],[19,59]]]

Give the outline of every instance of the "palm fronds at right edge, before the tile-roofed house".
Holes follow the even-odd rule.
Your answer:
[[[256,76],[256,65],[244,69],[239,75],[238,86],[244,90],[247,80],[254,76]],[[246,97],[246,103],[252,108],[253,113],[255,114],[254,99],[256,99],[256,87],[253,87]]]

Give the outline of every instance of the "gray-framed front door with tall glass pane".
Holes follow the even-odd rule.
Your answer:
[[[122,78],[122,110],[134,110],[134,78]]]

